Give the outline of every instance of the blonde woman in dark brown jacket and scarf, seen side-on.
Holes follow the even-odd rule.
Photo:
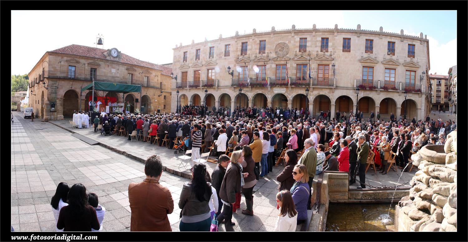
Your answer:
[[[233,224],[231,223],[233,217],[233,205],[235,204],[235,194],[241,191],[241,184],[243,182],[242,167],[242,151],[234,151],[231,155],[231,162],[227,165],[226,174],[221,183],[219,190],[219,198],[223,203],[223,212],[219,214],[218,220],[224,221],[226,231],[234,231]]]

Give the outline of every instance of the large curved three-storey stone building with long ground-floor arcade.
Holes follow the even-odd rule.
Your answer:
[[[307,38],[305,48],[301,42],[303,38]],[[344,39],[350,39],[350,42]],[[366,50],[368,40],[373,41],[372,51],[369,46]],[[263,41],[266,43],[263,44]],[[351,43],[350,48],[346,48],[348,44],[344,41]],[[388,49],[389,42],[394,43],[393,49]],[[247,49],[243,51],[245,43]],[[322,43],[328,43],[328,48]],[[414,58],[409,56],[409,44],[415,46]],[[226,45],[230,46],[229,56],[225,51]],[[357,29],[338,29],[337,26],[334,29],[296,29],[293,26],[292,29],[272,28],[263,32],[254,29],[249,34],[236,33],[227,38],[220,36],[219,39],[202,43],[181,43],[173,50],[172,68],[177,81],[173,81],[171,87],[173,91],[179,90],[180,94],[178,99],[176,95],[172,96],[172,111],[176,110],[176,103],[205,104],[206,101],[210,107],[224,105],[231,109],[239,105],[300,109],[307,105],[314,116],[320,110],[330,110],[332,117],[335,117],[337,110],[341,113],[355,112],[358,101],[355,88],[360,84],[367,87],[361,88],[358,96],[358,110],[363,110],[364,117],[369,117],[367,114],[372,110],[375,113],[380,111],[384,119],[388,119],[390,113],[396,117],[400,114],[403,116],[405,89],[409,90],[406,105],[408,119],[422,119],[430,111],[426,97],[428,80],[427,75],[424,79],[423,74],[430,68],[429,41],[422,33],[415,37],[404,35],[403,30],[400,34],[383,32],[382,28],[380,31],[362,30],[360,25]],[[196,56],[197,50],[199,56]],[[183,57],[184,52],[187,52],[187,59]],[[286,67],[281,66],[286,63],[289,84],[281,80],[281,75],[278,75],[279,80],[275,79],[277,68]],[[309,65],[312,79],[308,78]],[[243,70],[243,66],[247,66],[247,71]],[[256,68],[262,70],[263,66],[266,66],[267,80],[263,74],[258,78]],[[233,77],[227,73],[228,67],[234,72]],[[298,75],[300,67],[305,71],[299,71]],[[364,68],[367,67],[371,67],[372,77],[369,74],[363,78],[363,74],[366,74]],[[324,68],[328,68],[328,78],[326,71],[322,71]],[[392,72],[391,80],[387,82],[386,68],[389,69],[387,72]],[[405,84],[407,71],[411,71],[412,86]],[[301,76],[305,78],[297,78]],[[369,84],[363,79],[372,79],[373,82]],[[306,87],[309,89],[307,98]],[[205,89],[208,91],[206,98]]]

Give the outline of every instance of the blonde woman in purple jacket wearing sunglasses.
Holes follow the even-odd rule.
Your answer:
[[[292,200],[296,207],[297,224],[301,224],[307,220],[307,200],[309,199],[310,187],[307,183],[309,176],[304,164],[294,166],[292,170],[292,178],[296,181],[291,188]]]

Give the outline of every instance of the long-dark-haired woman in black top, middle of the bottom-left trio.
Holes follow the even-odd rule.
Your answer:
[[[94,207],[88,204],[86,187],[77,183],[70,188],[67,196],[68,206],[62,207],[57,221],[57,228],[63,231],[91,231],[99,230]]]

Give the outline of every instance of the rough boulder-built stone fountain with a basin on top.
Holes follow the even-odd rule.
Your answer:
[[[411,159],[419,171],[395,206],[395,231],[457,231],[457,132]]]

